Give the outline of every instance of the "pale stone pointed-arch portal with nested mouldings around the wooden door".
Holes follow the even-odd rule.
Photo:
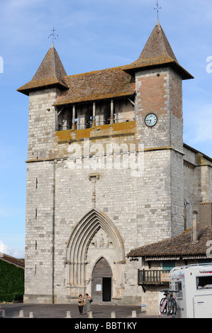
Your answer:
[[[113,272],[109,276],[102,276],[105,278],[104,287],[106,288],[107,284],[109,289],[113,275],[111,299],[119,298],[123,291],[123,241],[116,225],[101,210],[92,209],[74,227],[67,244],[67,297],[76,298],[79,293],[91,295],[94,291],[94,267],[101,258],[106,260],[108,271]],[[92,296],[94,297],[94,294]]]

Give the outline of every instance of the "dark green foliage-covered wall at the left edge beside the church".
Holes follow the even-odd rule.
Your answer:
[[[0,302],[23,300],[24,269],[0,260]]]

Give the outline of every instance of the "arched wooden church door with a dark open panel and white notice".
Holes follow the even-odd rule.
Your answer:
[[[99,259],[92,273],[92,295],[95,301],[111,301],[112,276],[108,261]]]

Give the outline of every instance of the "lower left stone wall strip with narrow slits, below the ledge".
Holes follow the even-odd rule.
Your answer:
[[[43,295],[47,303],[52,302],[54,168],[54,162],[38,162],[27,170],[25,300]]]

